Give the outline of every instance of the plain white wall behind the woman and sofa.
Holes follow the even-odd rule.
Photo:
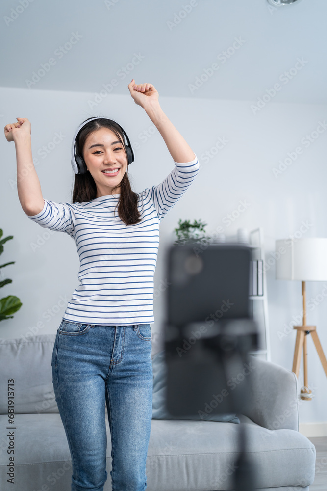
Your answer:
[[[160,134],[155,131],[144,141],[143,132],[153,125],[144,110],[134,104],[127,87],[126,94],[108,95],[91,110],[88,100],[92,94],[88,93],[0,89],[2,126],[15,121],[16,114],[31,121],[32,152],[39,161],[36,170],[45,198],[55,202],[71,201],[72,137],[78,124],[93,115],[117,120],[131,142],[139,143],[136,161],[129,168],[135,191],[157,184],[168,175],[173,160]],[[276,239],[290,234],[299,237],[305,228],[305,237],[327,237],[324,213],[327,205],[327,131],[319,134],[310,145],[302,140],[315,131],[320,121],[324,122],[326,106],[271,101],[253,114],[249,101],[171,97],[160,97],[159,100],[162,109],[199,157],[202,167],[197,180],[161,222],[155,289],[165,282],[164,250],[174,240],[173,230],[179,218],[201,218],[208,224],[207,233],[223,226],[227,236],[234,235],[239,227],[248,230],[263,227],[266,259],[272,257]],[[42,158],[38,151],[48,145],[55,132],[64,135],[62,142]],[[219,137],[228,143],[205,162],[201,155],[210,150]],[[16,176],[14,143],[7,143],[3,136],[0,144],[0,227],[4,236],[14,236],[5,245],[0,262],[16,261],[2,270],[1,279],[9,277],[13,282],[0,290],[0,297],[17,295],[23,302],[13,319],[0,322],[0,336],[4,339],[21,337],[31,330],[38,334],[55,333],[77,286],[79,263],[75,242],[66,234],[49,233],[27,218],[20,206],[17,187],[12,182]],[[301,147],[302,154],[275,177],[272,169],[297,147]],[[247,209],[226,226],[224,217],[236,210],[240,201],[248,203]],[[33,251],[32,244],[44,235],[44,244]],[[301,283],[275,280],[274,265],[267,272],[267,283],[272,361],[291,369],[295,331],[289,326],[293,316],[301,312]],[[307,300],[318,296],[317,305],[308,311],[307,322],[317,325],[327,353],[327,301],[321,295],[323,287],[323,283],[307,283]],[[161,349],[163,300],[161,295],[154,301],[156,322],[151,326],[154,352]],[[37,323],[42,327],[37,328]],[[287,333],[284,336],[283,329]],[[324,422],[327,379],[310,337],[308,353],[309,385],[315,397],[310,402],[300,403],[300,420],[301,423]],[[302,383],[301,366],[299,388]]]

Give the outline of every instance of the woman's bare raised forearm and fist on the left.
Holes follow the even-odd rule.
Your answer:
[[[31,125],[27,118],[4,127],[7,141],[14,141],[17,160],[18,198],[26,215],[36,215],[44,207],[41,185],[36,173],[31,148]]]

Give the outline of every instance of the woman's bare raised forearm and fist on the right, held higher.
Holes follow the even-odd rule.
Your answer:
[[[136,85],[133,79],[128,85],[128,89],[135,104],[146,111],[158,129],[173,160],[175,162],[192,162],[195,159],[195,153],[161,109],[158,101],[159,94],[153,85],[151,83]]]

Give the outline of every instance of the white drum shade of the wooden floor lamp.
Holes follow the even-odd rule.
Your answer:
[[[276,241],[276,279],[327,281],[327,238]]]

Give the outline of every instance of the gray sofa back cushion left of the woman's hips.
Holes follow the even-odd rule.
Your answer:
[[[15,413],[59,412],[52,384],[56,334],[0,339],[0,414],[7,413],[8,379],[15,381]]]

